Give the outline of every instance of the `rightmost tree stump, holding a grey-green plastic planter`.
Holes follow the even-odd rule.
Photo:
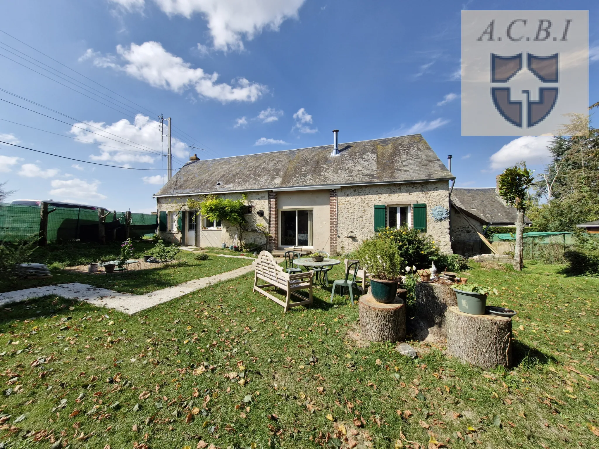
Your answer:
[[[512,365],[512,318],[447,308],[447,353],[485,369]]]

